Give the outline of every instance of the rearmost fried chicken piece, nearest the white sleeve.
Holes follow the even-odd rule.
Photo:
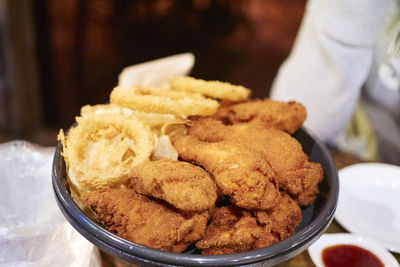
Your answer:
[[[213,117],[229,124],[250,122],[293,134],[303,125],[307,111],[295,101],[264,99],[221,106]]]

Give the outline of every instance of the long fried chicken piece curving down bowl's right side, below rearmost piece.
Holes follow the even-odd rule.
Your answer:
[[[188,134],[207,142],[240,142],[261,153],[275,171],[279,187],[299,205],[307,206],[317,197],[318,183],[323,178],[321,165],[310,162],[301,144],[283,131],[251,123],[224,125],[221,121],[203,117],[192,120]]]

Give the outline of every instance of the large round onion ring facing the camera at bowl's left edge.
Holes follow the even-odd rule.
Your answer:
[[[68,136],[61,130],[58,139],[68,175],[81,191],[122,184],[134,166],[149,160],[154,136],[134,116],[87,115],[76,121]]]

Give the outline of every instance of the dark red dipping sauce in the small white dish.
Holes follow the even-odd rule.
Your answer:
[[[326,267],[384,267],[372,252],[355,245],[336,245],[322,251]]]

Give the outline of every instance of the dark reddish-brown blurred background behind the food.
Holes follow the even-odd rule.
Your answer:
[[[0,142],[56,144],[122,68],[192,52],[192,76],[269,94],[305,0],[0,0]]]

